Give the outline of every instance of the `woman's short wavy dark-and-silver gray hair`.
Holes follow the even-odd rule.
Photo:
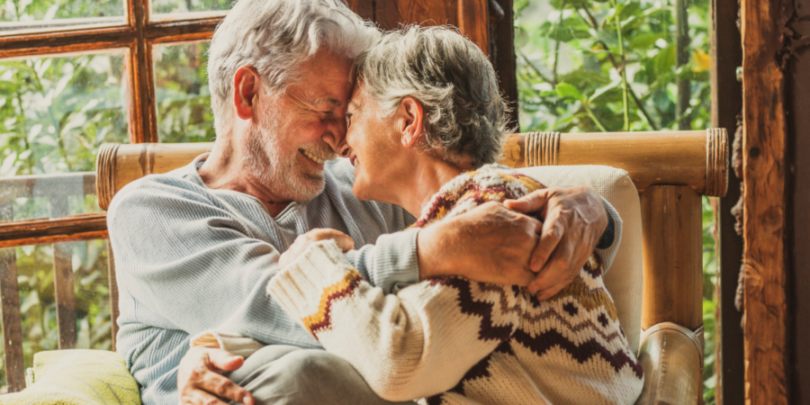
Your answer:
[[[508,132],[498,77],[482,50],[455,29],[412,25],[386,32],[355,59],[355,69],[383,114],[390,116],[406,95],[422,103],[425,148],[475,167],[500,157]]]

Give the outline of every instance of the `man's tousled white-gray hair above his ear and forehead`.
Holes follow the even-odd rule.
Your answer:
[[[380,31],[344,0],[238,0],[214,31],[209,49],[208,85],[217,132],[232,119],[238,67],[255,67],[266,88],[284,91],[298,78],[297,67],[319,49],[355,58],[379,38]]]

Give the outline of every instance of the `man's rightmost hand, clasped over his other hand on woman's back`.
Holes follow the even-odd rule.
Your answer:
[[[602,199],[586,186],[537,190],[504,205],[543,219],[543,233],[531,259],[531,269],[538,274],[527,287],[540,300],[571,284],[608,227]]]

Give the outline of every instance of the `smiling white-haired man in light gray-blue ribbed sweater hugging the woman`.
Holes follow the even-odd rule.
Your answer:
[[[211,154],[127,185],[108,212],[118,347],[144,403],[177,403],[181,359],[181,370],[192,370],[179,376],[190,403],[217,401],[207,392],[246,403],[387,403],[266,296],[279,254],[309,229],[351,236],[359,249],[347,259],[387,293],[464,275],[528,286],[541,299],[566,285],[604,238],[606,206],[581,187],[513,205],[541,211],[544,223],[485,205],[421,231],[401,230],[413,218],[400,207],[356,200],[352,167],[333,158],[347,152],[352,58],[378,35],[340,0],[241,0],[218,27],[209,62],[218,134]],[[233,330],[275,351],[244,365],[215,349],[185,356],[190,337],[207,329]],[[216,374],[235,369],[232,383]]]

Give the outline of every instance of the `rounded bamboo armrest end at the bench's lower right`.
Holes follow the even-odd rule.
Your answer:
[[[698,404],[703,396],[703,329],[662,322],[642,335],[644,390],[636,405]]]

